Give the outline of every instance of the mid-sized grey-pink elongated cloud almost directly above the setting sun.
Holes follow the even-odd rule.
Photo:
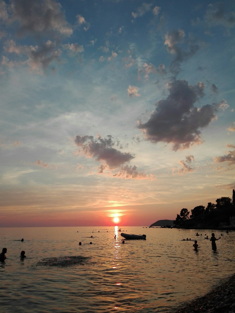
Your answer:
[[[115,142],[112,140],[111,135],[107,138],[102,138],[99,134],[97,139],[93,136],[75,136],[75,144],[80,148],[79,152],[86,157],[94,157],[96,161],[105,162],[110,168],[116,168],[123,163],[129,162],[135,156],[129,152],[121,152],[113,146]]]

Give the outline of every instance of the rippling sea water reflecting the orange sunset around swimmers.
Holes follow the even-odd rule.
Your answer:
[[[1,312],[174,312],[234,274],[235,231],[121,227],[146,234],[122,244],[118,229],[0,228]]]

